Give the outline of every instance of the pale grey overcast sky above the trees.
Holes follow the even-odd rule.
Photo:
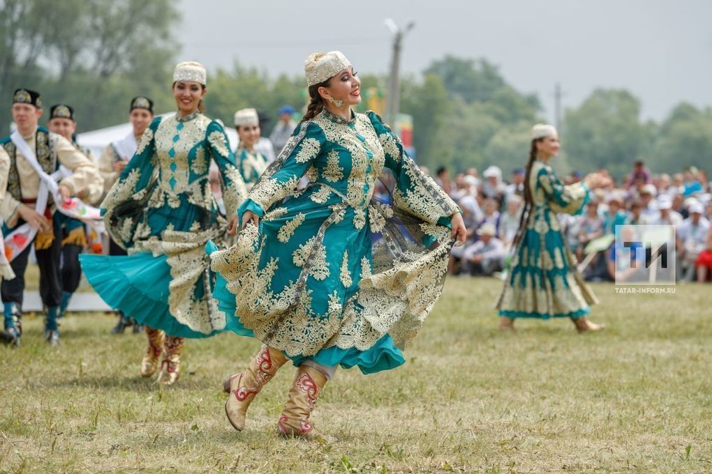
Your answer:
[[[712,105],[711,0],[288,1],[181,0],[181,60],[209,70],[235,60],[300,74],[314,51],[339,49],[360,72],[389,68],[384,18],[415,27],[402,70],[419,74],[446,54],[487,58],[523,92],[536,92],[553,118],[595,87],[622,87],[663,119],[681,101]]]

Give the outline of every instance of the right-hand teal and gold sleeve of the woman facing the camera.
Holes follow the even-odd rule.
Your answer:
[[[232,217],[247,195],[245,181],[237,168],[235,155],[230,149],[230,141],[220,122],[216,120],[210,122],[205,134],[210,154],[220,171],[225,212],[228,217]]]

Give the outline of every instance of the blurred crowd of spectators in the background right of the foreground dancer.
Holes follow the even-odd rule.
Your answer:
[[[498,166],[489,166],[482,176],[468,168],[454,179],[446,168],[436,170],[436,183],[459,204],[468,228],[466,244],[452,251],[451,274],[501,276],[520,222],[524,176],[518,168],[505,180]],[[577,172],[562,179],[565,184],[580,180]],[[636,161],[622,181],[611,182],[590,192],[579,214],[559,215],[565,244],[579,262],[585,262],[585,279],[615,280],[615,257],[621,250],[612,238],[616,226],[665,224],[676,230],[676,279],[711,281],[712,194],[704,171],[689,166],[672,176],[654,174]],[[591,250],[591,242],[607,247]]]

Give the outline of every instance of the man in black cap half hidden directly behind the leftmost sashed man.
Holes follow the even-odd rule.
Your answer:
[[[94,157],[90,149],[80,146],[76,141],[75,131],[77,123],[74,117],[74,109],[67,104],[56,104],[49,109],[48,127],[51,133],[63,136],[75,146],[76,149],[94,163]],[[97,193],[94,193],[95,195]],[[99,193],[101,196],[101,193]],[[87,193],[78,196],[87,200]],[[96,203],[91,203],[96,204]],[[62,282],[62,303],[59,307],[59,318],[63,318],[69,306],[72,295],[79,286],[82,277],[81,266],[79,265],[79,254],[87,246],[86,230],[84,222],[68,217],[57,212],[54,220],[58,222],[62,241],[61,258],[61,282]]]

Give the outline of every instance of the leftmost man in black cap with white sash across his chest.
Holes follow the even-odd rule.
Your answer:
[[[6,253],[14,279],[1,284],[5,330],[15,344],[21,335],[21,314],[25,269],[30,245],[40,269],[40,296],[47,308],[46,340],[59,343],[57,316],[62,301],[59,260],[61,237],[56,215],[58,199],[68,201],[73,195],[97,200],[103,190],[98,168],[63,136],[38,126],[42,102],[38,92],[18,89],[12,97],[12,117],[17,130],[0,141],[0,155],[9,160],[8,183],[1,205]],[[57,184],[60,166],[66,178]]]

